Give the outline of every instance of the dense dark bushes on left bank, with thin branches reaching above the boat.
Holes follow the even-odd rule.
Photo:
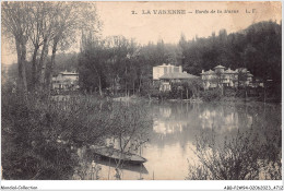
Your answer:
[[[115,136],[134,143],[142,138],[140,127],[149,127],[139,106],[94,96],[39,97],[2,92],[4,179],[71,179],[79,164],[73,148],[105,145]]]

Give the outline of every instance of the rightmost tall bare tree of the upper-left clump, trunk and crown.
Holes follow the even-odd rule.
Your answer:
[[[60,2],[57,4],[59,13],[55,17],[56,27],[51,41],[51,61],[47,64],[46,89],[50,89],[51,74],[55,67],[55,58],[58,48],[67,49],[76,41],[76,36],[82,31],[97,33],[100,23],[94,3],[88,2]]]

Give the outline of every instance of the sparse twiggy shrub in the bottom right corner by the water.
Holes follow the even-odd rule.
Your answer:
[[[234,138],[225,138],[217,144],[216,134],[202,133],[197,139],[194,153],[197,165],[189,164],[190,180],[259,180],[282,179],[281,129],[265,133],[260,140],[252,128],[237,132]],[[275,143],[275,138],[276,143]],[[274,141],[273,141],[274,140]]]

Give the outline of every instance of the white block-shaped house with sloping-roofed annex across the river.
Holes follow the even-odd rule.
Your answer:
[[[182,72],[181,65],[165,64],[153,67],[153,80],[159,83],[159,91],[171,91],[173,83],[198,79],[199,76]]]

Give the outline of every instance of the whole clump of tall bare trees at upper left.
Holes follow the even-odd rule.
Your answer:
[[[47,94],[57,50],[68,49],[82,29],[97,32],[100,26],[95,4],[85,2],[4,2],[2,17],[7,38],[14,39],[16,45],[21,86],[27,91],[28,47],[32,51],[32,89],[39,83],[39,89]]]

